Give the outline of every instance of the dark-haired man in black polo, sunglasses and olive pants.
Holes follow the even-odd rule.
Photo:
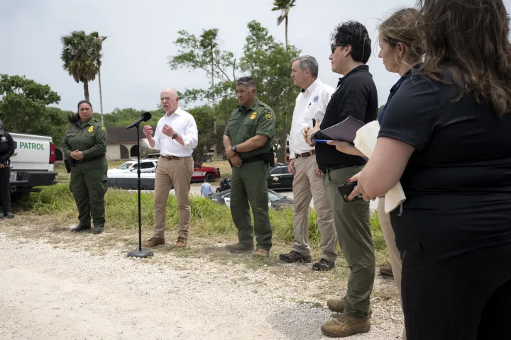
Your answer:
[[[331,140],[321,130],[340,123],[350,115],[369,123],[378,113],[378,94],[366,62],[371,53],[365,26],[350,21],[339,25],[332,35],[332,71],[343,74],[332,95],[321,125],[306,130],[307,142]],[[345,297],[330,299],[327,305],[340,312],[339,317],[322,326],[327,336],[349,336],[370,329],[370,294],[375,276],[375,256],[369,226],[369,203],[362,199],[346,202],[337,191],[360,172],[366,161],[362,157],[337,151],[333,145],[318,143],[316,157],[324,174],[323,184],[334,210],[334,222],[342,253],[351,270]]]

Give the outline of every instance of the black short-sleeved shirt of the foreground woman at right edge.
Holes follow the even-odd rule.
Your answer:
[[[400,180],[402,216],[391,213],[400,251],[422,246],[441,259],[511,243],[511,115],[458,96],[414,75],[385,111],[379,137],[415,149]]]

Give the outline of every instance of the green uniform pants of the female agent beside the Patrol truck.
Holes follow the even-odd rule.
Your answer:
[[[108,188],[106,158],[94,159],[71,168],[70,190],[78,208],[79,225],[105,224],[104,195]]]

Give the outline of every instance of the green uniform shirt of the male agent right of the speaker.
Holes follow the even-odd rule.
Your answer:
[[[238,106],[231,113],[224,135],[231,138],[232,145],[241,144],[255,135],[268,136],[270,138],[263,147],[239,153],[241,159],[265,154],[272,148],[275,137],[275,113],[270,106],[255,98],[251,107]]]

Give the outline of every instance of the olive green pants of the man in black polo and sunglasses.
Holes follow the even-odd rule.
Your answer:
[[[350,276],[346,292],[346,313],[352,317],[368,317],[370,294],[375,278],[375,254],[370,232],[369,203],[361,198],[345,202],[337,190],[363,166],[348,166],[324,175],[323,184],[331,207],[342,254],[348,262]]]

